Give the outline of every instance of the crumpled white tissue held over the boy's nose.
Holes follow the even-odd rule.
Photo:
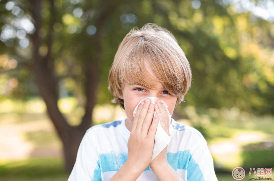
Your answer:
[[[135,109],[133,111],[133,117],[135,117],[135,115],[136,115],[139,104],[143,100],[146,100],[148,98],[151,100],[151,104],[156,104],[156,100],[159,99],[158,97],[146,97],[146,98],[142,99],[137,104],[137,106],[135,107]],[[164,103],[164,105],[167,109],[167,104],[163,100],[161,100],[161,99],[159,99],[159,100],[160,100],[161,103]],[[171,125],[171,115],[170,115],[170,112],[168,111],[168,109],[167,109],[167,113],[168,113],[168,118],[169,118],[169,133],[170,133],[170,136],[168,136],[168,134],[162,128],[161,123],[159,121],[158,126],[157,126],[157,130],[156,130],[156,134],[155,134],[155,143],[154,143],[154,148],[153,148],[153,153],[152,153],[150,163],[168,145],[168,143],[171,140],[171,136],[173,134],[174,129]],[[156,115],[156,112],[154,111],[153,118],[154,118],[155,115]],[[151,173],[154,173],[150,166],[149,166],[149,169],[150,169]]]

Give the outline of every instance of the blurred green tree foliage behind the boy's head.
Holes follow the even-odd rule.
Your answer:
[[[236,106],[248,112],[274,113],[274,65],[271,61],[274,54],[270,41],[274,28],[271,22],[252,12],[236,12],[234,4],[225,5],[223,1],[199,1],[200,5],[198,1],[144,0],[127,4],[115,1],[102,20],[103,26],[90,35],[88,28],[96,26],[98,14],[105,5],[98,1],[77,2],[54,1],[56,22],[51,50],[54,73],[60,77],[61,97],[84,95],[87,62],[99,61],[97,102],[109,103],[112,95],[107,89],[107,77],[119,43],[134,26],[140,28],[147,22],[154,22],[175,35],[191,64],[193,81],[185,97],[188,105],[199,108]],[[12,19],[16,20],[16,16],[5,8],[6,3],[0,2],[1,28],[10,26]],[[32,7],[22,0],[14,5],[24,10],[22,17],[29,14]],[[120,19],[122,14],[129,13],[135,15],[135,22]],[[39,30],[42,56],[49,51],[47,40],[52,17],[51,4],[42,1]],[[31,40],[30,33],[25,39]],[[98,40],[101,51],[95,52]],[[0,41],[0,74],[3,72],[0,76],[5,81],[0,83],[0,99],[38,95],[30,69],[32,47],[23,48],[18,37],[3,41]],[[16,68],[7,63],[13,59],[17,61]]]

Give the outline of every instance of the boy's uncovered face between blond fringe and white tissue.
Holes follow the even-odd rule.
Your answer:
[[[156,78],[150,66],[146,64],[146,67],[149,73],[151,74],[151,76]],[[133,119],[134,119],[133,111],[136,105],[142,99],[146,97],[158,97],[159,99],[163,100],[168,106],[167,108],[168,108],[168,111],[170,112],[170,115],[173,114],[177,97],[170,95],[170,93],[162,87],[162,84],[159,81],[155,82],[155,85],[157,85],[156,89],[149,89],[147,87],[136,85],[136,84],[135,85],[125,84],[123,95],[120,96],[120,98],[124,100],[125,113],[131,124],[133,123]]]

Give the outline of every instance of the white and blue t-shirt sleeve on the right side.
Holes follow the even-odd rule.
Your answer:
[[[212,155],[207,141],[202,141],[191,150],[187,166],[188,181],[218,181],[214,170]]]

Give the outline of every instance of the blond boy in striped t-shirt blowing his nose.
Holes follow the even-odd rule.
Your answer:
[[[127,117],[86,131],[68,181],[216,181],[207,141],[198,130],[172,118],[171,141],[150,163],[158,122],[169,126],[167,110],[148,99],[133,117],[146,97],[163,100],[172,115],[184,101],[191,78],[189,62],[171,32],[152,23],[133,28],[120,43],[109,72],[112,103],[119,102]],[[154,111],[157,118],[152,120]]]

